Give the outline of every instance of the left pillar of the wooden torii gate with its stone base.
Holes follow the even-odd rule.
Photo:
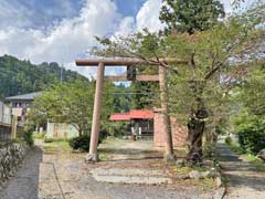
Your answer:
[[[100,127],[100,116],[102,116],[102,102],[103,102],[103,85],[104,85],[104,63],[99,63],[97,67],[97,81],[96,81],[96,92],[93,109],[93,121],[92,121],[92,132],[91,132],[91,145],[89,154],[86,155],[86,161],[97,161],[97,145],[99,139],[99,127]]]

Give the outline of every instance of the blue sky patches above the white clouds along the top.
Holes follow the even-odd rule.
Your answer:
[[[123,15],[136,15],[146,0],[113,0],[118,12]],[[98,1],[99,2],[99,1]],[[80,13],[85,0],[0,0],[0,7],[6,10],[0,13],[0,27],[17,25],[20,28],[49,29],[56,22],[63,19],[71,19]],[[13,10],[18,8],[18,10]],[[21,17],[20,11],[24,11]],[[28,13],[25,13],[28,11]],[[20,19],[13,21],[7,18]],[[19,24],[20,20],[24,19],[26,23]]]

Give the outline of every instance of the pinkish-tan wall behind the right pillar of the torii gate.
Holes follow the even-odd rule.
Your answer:
[[[162,121],[161,113],[155,113],[155,122],[153,122],[153,144],[156,147],[163,147],[165,146],[165,125]],[[187,127],[183,125],[178,124],[177,118],[171,117],[171,129],[172,129],[172,139],[173,146],[178,147],[186,147],[188,130]]]

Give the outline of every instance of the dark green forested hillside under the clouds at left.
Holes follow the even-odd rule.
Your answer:
[[[85,80],[78,73],[65,69],[62,70],[62,77],[64,82]],[[0,56],[0,98],[41,91],[60,80],[61,67],[55,62],[34,65],[10,55]]]

